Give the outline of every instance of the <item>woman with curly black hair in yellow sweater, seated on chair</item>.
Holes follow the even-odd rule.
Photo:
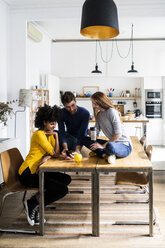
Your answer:
[[[31,138],[30,151],[18,170],[20,182],[28,187],[39,187],[38,170],[42,163],[51,157],[58,157],[58,133],[54,131],[60,120],[61,109],[56,105],[40,107],[36,113],[35,127],[38,128]],[[45,206],[62,198],[68,193],[69,175],[60,172],[45,173]],[[24,202],[27,220],[30,225],[39,224],[39,193]]]

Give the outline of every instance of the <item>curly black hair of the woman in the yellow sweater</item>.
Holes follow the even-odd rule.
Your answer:
[[[39,107],[35,117],[35,127],[43,130],[44,122],[58,122],[61,118],[62,110],[54,105],[53,107],[45,104],[44,107]]]

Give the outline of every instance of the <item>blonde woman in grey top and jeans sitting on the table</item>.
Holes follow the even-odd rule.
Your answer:
[[[108,163],[114,163],[116,158],[127,157],[132,151],[132,145],[130,137],[127,136],[121,123],[118,111],[103,92],[94,93],[91,101],[96,128],[99,131],[102,130],[109,140],[97,139],[96,142],[93,142],[90,137],[85,137],[83,144],[99,157],[106,158]]]

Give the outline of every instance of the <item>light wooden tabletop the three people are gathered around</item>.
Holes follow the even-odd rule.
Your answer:
[[[133,170],[142,169],[148,170],[152,168],[142,145],[137,136],[132,136],[133,144],[132,153],[126,158],[116,159],[114,164],[108,164],[105,159],[100,159],[97,156],[83,157],[80,163],[74,160],[64,160],[63,158],[51,158],[40,166],[40,171],[107,171],[107,170]]]

